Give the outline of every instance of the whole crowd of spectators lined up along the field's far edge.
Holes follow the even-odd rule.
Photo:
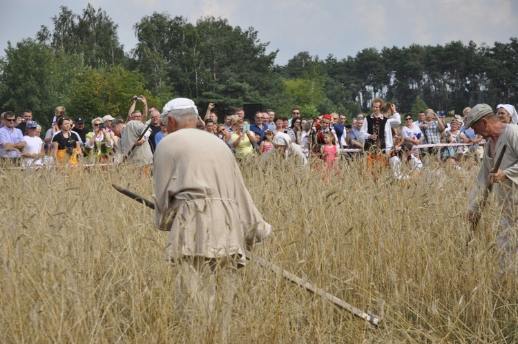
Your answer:
[[[142,111],[135,110],[139,102]],[[338,113],[307,118],[300,108],[291,109],[289,116],[271,109],[258,111],[251,121],[245,118],[243,108],[236,108],[220,121],[216,109],[216,104],[210,103],[196,127],[223,140],[239,161],[282,157],[295,159],[304,168],[308,161],[320,160],[315,166],[329,176],[340,160],[364,153],[370,173],[381,164],[391,168],[396,179],[404,180],[419,174],[430,162],[459,171],[459,162],[467,153],[477,160],[483,156],[483,138],[465,127],[469,107],[448,122],[443,112],[431,108],[401,115],[394,104],[381,98],[371,102],[372,113],[359,113],[350,122]],[[502,123],[518,123],[518,113],[510,104],[497,105],[495,115]],[[68,117],[66,109],[58,106],[44,140],[30,110],[19,117],[12,111],[2,113],[0,126],[3,166],[22,168],[130,161],[147,166],[153,162],[156,146],[168,134],[160,111],[156,106],[148,108],[142,95],[131,99],[126,118],[96,117],[91,128],[86,128],[83,117]]]

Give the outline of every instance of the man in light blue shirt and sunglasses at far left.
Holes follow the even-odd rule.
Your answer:
[[[0,128],[0,157],[4,162],[18,164],[21,150],[25,148],[21,130],[15,128],[16,115],[12,111],[3,114],[5,125]]]

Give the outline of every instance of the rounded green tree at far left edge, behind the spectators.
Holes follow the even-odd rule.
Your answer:
[[[52,52],[32,39],[10,43],[0,64],[0,104],[3,111],[20,113],[26,108],[48,126],[57,106],[64,105],[75,73],[83,70],[80,56]]]

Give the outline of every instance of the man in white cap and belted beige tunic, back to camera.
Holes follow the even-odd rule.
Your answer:
[[[194,102],[173,99],[161,116],[169,135],[153,157],[154,221],[171,231],[165,258],[178,267],[176,306],[189,326],[216,331],[215,342],[227,343],[245,245],[268,236],[271,226],[253,204],[227,144],[196,130]]]

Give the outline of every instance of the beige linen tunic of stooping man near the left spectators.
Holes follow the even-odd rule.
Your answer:
[[[117,161],[122,162],[124,155],[126,155],[128,151],[131,151],[131,147],[133,147],[133,144],[135,144],[135,141],[140,137],[146,127],[146,124],[140,121],[130,121],[124,126],[124,129],[121,131],[121,139],[117,142],[119,145]],[[148,129],[146,137],[148,138],[149,135],[151,135],[151,129]],[[137,166],[151,164],[151,162],[153,162],[153,153],[151,152],[151,146],[149,146],[148,140],[141,146],[136,146],[126,162],[131,162]]]

